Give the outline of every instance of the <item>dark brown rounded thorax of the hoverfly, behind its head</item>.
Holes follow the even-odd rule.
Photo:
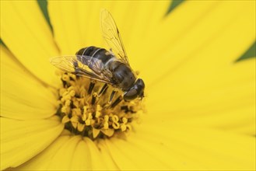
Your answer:
[[[110,71],[113,74],[114,82],[123,91],[130,89],[136,81],[132,69],[121,61],[112,61],[110,64]]]

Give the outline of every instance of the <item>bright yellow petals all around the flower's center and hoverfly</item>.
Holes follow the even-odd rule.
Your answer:
[[[1,1],[1,169],[255,169],[254,1]],[[65,130],[49,58],[104,47],[100,9],[146,82],[146,113],[126,138]]]

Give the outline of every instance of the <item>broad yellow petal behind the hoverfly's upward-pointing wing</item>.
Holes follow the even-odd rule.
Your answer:
[[[49,2],[54,37],[62,54],[74,54],[86,46],[103,46],[100,10],[110,11],[121,31],[128,54],[140,47],[148,30],[163,18],[170,2]],[[131,10],[132,9],[132,10]],[[145,27],[147,29],[145,29]],[[131,42],[131,44],[130,44]],[[129,51],[131,49],[131,51]],[[132,58],[132,55],[130,55]],[[135,62],[137,57],[131,61]]]

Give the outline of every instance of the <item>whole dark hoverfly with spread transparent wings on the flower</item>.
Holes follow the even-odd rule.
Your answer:
[[[142,98],[145,84],[142,79],[137,78],[129,65],[117,25],[106,9],[101,12],[100,24],[103,39],[110,51],[101,47],[84,47],[73,56],[51,58],[51,64],[64,72],[121,89],[125,101]]]

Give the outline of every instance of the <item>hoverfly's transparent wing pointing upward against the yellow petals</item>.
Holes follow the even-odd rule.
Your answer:
[[[100,21],[102,35],[104,40],[106,40],[110,51],[113,51],[117,58],[129,65],[128,56],[124,50],[121,35],[113,17],[107,9],[101,11]]]

